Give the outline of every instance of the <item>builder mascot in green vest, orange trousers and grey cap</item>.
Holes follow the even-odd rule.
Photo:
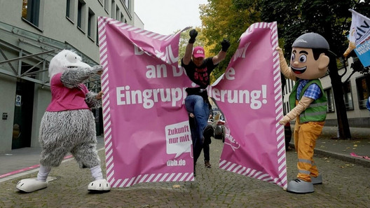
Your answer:
[[[313,184],[322,183],[322,177],[313,162],[313,150],[327,117],[327,97],[319,78],[327,73],[329,43],[316,33],[299,36],[292,45],[290,67],[282,49],[277,50],[282,74],[296,81],[289,96],[292,111],[279,121],[285,125],[296,118],[294,146],[298,153],[298,179],[288,183],[287,191],[313,193]]]

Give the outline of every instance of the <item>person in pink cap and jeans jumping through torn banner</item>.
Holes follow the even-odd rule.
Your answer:
[[[226,51],[230,47],[230,42],[224,39],[221,42],[222,49],[213,56],[205,58],[205,50],[201,46],[193,48],[198,32],[192,29],[189,32],[190,39],[186,46],[185,55],[181,60],[181,66],[186,70],[193,83],[199,85],[198,88],[186,88],[188,93],[185,99],[186,110],[193,113],[196,119],[196,132],[193,139],[193,159],[194,159],[194,176],[196,176],[196,162],[203,148],[203,141],[210,139],[213,135],[213,128],[207,125],[208,116],[210,115],[207,88],[210,85],[210,74],[215,67],[225,59]]]

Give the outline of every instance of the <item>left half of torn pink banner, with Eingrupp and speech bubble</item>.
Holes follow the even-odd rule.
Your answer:
[[[191,81],[178,67],[179,35],[98,18],[103,120],[111,187],[193,181],[184,107]]]

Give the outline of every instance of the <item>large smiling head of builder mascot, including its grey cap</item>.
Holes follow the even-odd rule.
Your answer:
[[[299,36],[292,45],[290,67],[297,78],[312,80],[327,73],[329,43],[323,36],[306,33]]]

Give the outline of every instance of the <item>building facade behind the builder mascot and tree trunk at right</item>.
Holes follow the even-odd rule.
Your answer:
[[[370,96],[370,76],[364,76],[359,72],[352,74],[353,70],[350,67],[352,62],[352,58],[348,59],[347,70],[345,70],[345,67],[338,70],[339,75],[343,74],[343,99],[345,102],[345,109],[347,109],[348,123],[350,127],[370,127],[370,112],[366,109],[366,100]],[[329,74],[320,78],[320,81],[328,99],[327,120],[325,121],[325,125],[336,126],[338,122],[335,99]],[[283,89],[285,113],[290,111],[289,95],[290,92],[292,92],[293,86],[294,81],[287,79],[287,83]]]

